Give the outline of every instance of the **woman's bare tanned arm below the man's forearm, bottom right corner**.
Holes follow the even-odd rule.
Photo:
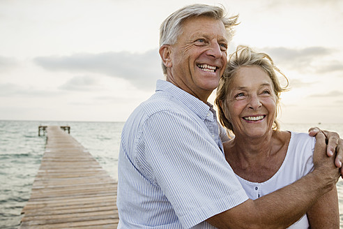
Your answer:
[[[307,212],[311,229],[340,228],[340,212],[336,187],[324,194]]]

